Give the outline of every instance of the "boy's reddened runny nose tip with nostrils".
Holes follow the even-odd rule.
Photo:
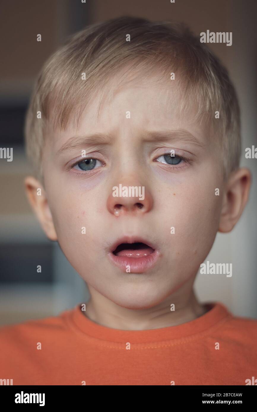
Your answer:
[[[113,186],[107,199],[108,211],[118,217],[126,214],[143,215],[151,210],[153,198],[145,186],[119,184]]]

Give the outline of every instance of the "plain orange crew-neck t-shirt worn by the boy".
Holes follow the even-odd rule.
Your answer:
[[[59,316],[3,326],[0,379],[13,385],[254,382],[257,321],[233,316],[220,302],[208,305],[191,322],[151,330],[107,328],[87,318],[81,304]]]

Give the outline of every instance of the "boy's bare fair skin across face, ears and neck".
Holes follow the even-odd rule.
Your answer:
[[[71,123],[65,131],[49,128],[42,158],[44,185],[33,176],[25,180],[28,199],[47,237],[59,242],[87,282],[91,297],[85,316],[109,328],[163,328],[205,314],[207,308],[193,290],[195,276],[217,231],[230,232],[248,201],[250,171],[238,169],[224,180],[217,138],[207,122],[192,122],[196,106],[185,116],[178,115],[174,87],[149,78],[121,84],[111,98],[104,97],[99,115],[97,94],[77,129]],[[199,144],[179,133],[169,141],[145,141],[149,132],[178,129],[190,132]],[[110,144],[85,140],[57,154],[71,137],[94,133],[109,134]],[[169,166],[163,155],[171,149],[190,163]],[[82,150],[100,161],[91,172],[78,166],[70,169],[83,160]],[[144,200],[113,197],[112,188],[120,183],[144,186]],[[36,194],[39,187],[41,196]],[[108,248],[125,235],[157,245],[160,258],[154,267],[141,274],[124,273],[108,260]],[[170,311],[171,304],[175,311]]]

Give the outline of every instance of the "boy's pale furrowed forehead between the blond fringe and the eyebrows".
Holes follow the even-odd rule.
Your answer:
[[[121,70],[111,77],[104,87],[90,97],[81,112],[77,126],[69,122],[64,131],[56,131],[54,145],[71,133],[97,133],[124,130],[162,130],[184,128],[204,136],[210,125],[204,119],[195,122],[198,107],[191,103],[181,112],[186,96],[179,73],[170,80],[169,73],[136,73]],[[83,105],[82,105],[83,106]],[[52,139],[51,139],[52,140]]]

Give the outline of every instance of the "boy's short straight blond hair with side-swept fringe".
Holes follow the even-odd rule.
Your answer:
[[[128,34],[130,41],[126,41]],[[75,121],[78,124],[94,92],[124,66],[130,67],[130,73],[144,67],[150,75],[155,68],[167,79],[179,69],[186,96],[181,99],[181,112],[196,101],[195,121],[207,115],[220,138],[224,176],[238,168],[240,109],[226,68],[184,23],[123,16],[75,33],[42,67],[24,129],[26,152],[38,178],[43,176],[42,150],[50,120],[53,128],[60,130],[67,127],[72,116],[73,125]],[[86,80],[82,80],[82,73]],[[37,118],[38,111],[41,119]],[[219,119],[215,119],[216,111]]]

